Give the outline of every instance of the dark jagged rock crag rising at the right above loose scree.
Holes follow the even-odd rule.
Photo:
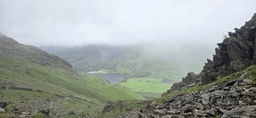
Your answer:
[[[240,29],[234,28],[234,30],[234,33],[228,32],[229,37],[222,43],[217,44],[219,47],[215,49],[213,61],[207,59],[200,74],[188,73],[187,77],[175,83],[167,93],[200,82],[200,80],[202,84],[207,84],[217,80],[220,76],[230,75],[256,64],[256,13],[244,26]]]

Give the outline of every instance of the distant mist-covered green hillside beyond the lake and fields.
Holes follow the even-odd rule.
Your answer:
[[[75,69],[84,72],[103,69],[109,73],[133,77],[167,79],[178,82],[189,70],[201,71],[205,57],[211,51],[204,47],[179,49],[156,48],[156,45],[87,45],[81,47],[44,47],[52,54],[67,59]],[[193,50],[190,50],[193,49]],[[204,50],[202,50],[204,49]],[[181,51],[182,50],[182,51]],[[197,53],[200,52],[200,53]]]

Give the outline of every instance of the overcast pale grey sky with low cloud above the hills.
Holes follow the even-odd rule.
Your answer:
[[[255,5],[255,0],[0,0],[0,32],[36,46],[161,42],[211,48],[243,26]]]

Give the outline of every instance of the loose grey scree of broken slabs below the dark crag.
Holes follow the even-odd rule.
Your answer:
[[[245,79],[246,75],[206,90],[181,93],[161,104],[152,102],[117,117],[256,117],[256,85]]]

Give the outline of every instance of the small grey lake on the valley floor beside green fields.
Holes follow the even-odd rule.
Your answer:
[[[120,82],[122,80],[122,78],[129,77],[127,75],[111,74],[111,73],[107,73],[107,74],[89,74],[89,75],[100,76],[100,77],[104,78],[105,80],[110,81],[111,84],[117,84],[118,82]]]

